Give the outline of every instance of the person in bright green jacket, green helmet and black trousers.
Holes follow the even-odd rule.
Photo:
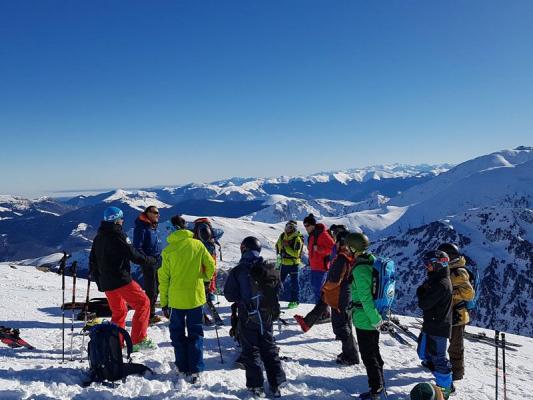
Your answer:
[[[379,352],[379,332],[383,320],[372,297],[373,264],[376,258],[367,252],[370,242],[366,235],[349,233],[345,242],[356,258],[352,270],[352,320],[370,388],[368,392],[362,393],[359,399],[384,399],[386,393],[383,359]]]

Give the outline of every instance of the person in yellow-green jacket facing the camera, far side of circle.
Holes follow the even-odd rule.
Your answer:
[[[301,255],[304,247],[303,235],[298,231],[298,224],[290,220],[285,225],[285,231],[279,236],[276,243],[276,253],[280,258],[281,283],[285,282],[287,275],[291,277],[291,297],[289,308],[298,307],[300,285],[298,282],[298,272],[300,268]]]

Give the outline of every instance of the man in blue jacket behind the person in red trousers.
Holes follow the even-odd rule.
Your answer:
[[[161,255],[161,240],[157,232],[159,224],[159,210],[156,206],[146,207],[135,220],[133,230],[133,247],[146,256],[159,257]],[[155,304],[159,295],[157,281],[157,266],[143,266],[143,289],[150,299],[150,323],[161,321],[155,314]]]

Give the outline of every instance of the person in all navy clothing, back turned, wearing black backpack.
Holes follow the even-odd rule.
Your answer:
[[[274,263],[259,256],[261,243],[253,236],[241,243],[241,260],[226,280],[224,296],[238,305],[241,359],[246,369],[246,387],[255,396],[264,396],[265,366],[270,391],[280,397],[279,386],[285,382],[285,372],[279,359],[279,349],[273,335],[273,321],[279,317],[279,271]]]

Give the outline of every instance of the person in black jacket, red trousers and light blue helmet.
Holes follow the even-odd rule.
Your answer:
[[[105,292],[112,322],[124,328],[128,305],[135,310],[131,328],[133,350],[155,348],[147,336],[150,300],[139,284],[132,280],[130,261],[154,267],[160,259],[145,256],[130,245],[122,230],[123,223],[124,214],[120,208],[108,207],[104,211],[104,220],[93,240],[89,256],[91,278],[98,290]]]

